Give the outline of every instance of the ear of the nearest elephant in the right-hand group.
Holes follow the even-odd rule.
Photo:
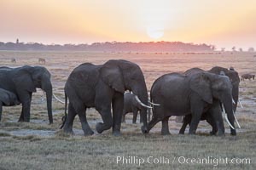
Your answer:
[[[206,73],[199,73],[190,79],[189,88],[198,94],[201,99],[212,104],[211,82]]]

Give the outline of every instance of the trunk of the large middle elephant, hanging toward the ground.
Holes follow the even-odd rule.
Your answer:
[[[148,92],[146,88],[146,83],[144,82],[143,88],[131,88],[133,94],[137,95],[137,98],[143,103],[143,105],[148,105]],[[143,121],[142,132],[148,133],[148,122],[147,122],[147,110],[148,108],[143,106],[140,111],[141,120]]]

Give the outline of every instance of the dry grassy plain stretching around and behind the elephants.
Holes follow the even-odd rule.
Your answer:
[[[108,59],[128,59],[143,69],[148,90],[152,82],[162,74],[172,71],[186,71],[191,67],[210,69],[219,65],[235,67],[240,74],[256,73],[254,54],[226,52],[224,54],[126,54],[126,53],[86,53],[86,52],[14,52],[0,51],[0,65],[39,65],[38,58],[46,59],[44,65],[52,75],[55,94],[64,99],[63,87],[73,68],[84,62],[102,64]],[[16,63],[10,59],[15,58]],[[38,89],[33,94],[30,123],[18,123],[21,107],[4,107],[0,122],[0,169],[206,169],[206,168],[256,168],[256,80],[241,82],[240,99],[244,108],[238,107],[237,117],[241,124],[236,137],[230,137],[226,125],[226,136],[209,136],[210,127],[201,122],[198,135],[178,135],[180,123],[169,122],[171,136],[160,135],[160,123],[144,136],[140,124],[122,124],[121,137],[113,137],[111,131],[84,137],[78,117],[75,120],[75,135],[66,136],[58,129],[64,105],[53,99],[54,124],[49,125],[45,96]],[[101,118],[94,109],[87,113],[93,130]],[[126,161],[117,162],[118,156]],[[133,157],[129,157],[133,156]],[[152,157],[150,157],[152,156]],[[183,163],[183,157],[190,158]],[[218,161],[226,158],[229,164]],[[129,159],[130,158],[130,159]],[[137,161],[137,163],[131,162]],[[135,158],[135,159],[134,159]],[[208,163],[192,163],[191,158],[205,158]],[[240,159],[231,163],[233,158]],[[245,162],[248,158],[250,162]],[[242,160],[243,159],[243,160]],[[129,162],[130,160],[130,162]],[[138,161],[145,161],[138,165]],[[152,162],[155,160],[155,162]],[[157,161],[159,161],[157,163]],[[237,160],[236,160],[237,161]],[[169,163],[168,163],[169,162]],[[217,163],[219,164],[217,165]],[[240,163],[239,163],[240,162]]]

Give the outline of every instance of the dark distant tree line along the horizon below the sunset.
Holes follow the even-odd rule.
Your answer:
[[[214,51],[214,45],[185,42],[94,42],[91,44],[43,44],[38,42],[0,42],[0,50],[73,50],[102,52],[196,52]]]

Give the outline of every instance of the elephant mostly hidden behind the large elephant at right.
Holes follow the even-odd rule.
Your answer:
[[[188,71],[184,72],[184,75],[193,75],[196,74],[198,72],[202,72],[203,70],[199,69],[199,68],[192,68],[189,69]],[[236,104],[233,105],[233,111],[236,111],[236,107],[237,107],[237,101],[238,101],[238,94],[239,94],[239,76],[238,73],[234,70],[234,68],[228,70],[225,69],[223,67],[213,67],[209,72],[215,73],[215,74],[221,74],[223,73],[224,75],[226,75],[227,77],[230,78],[231,84],[232,84],[232,97],[235,100]],[[187,125],[191,122],[191,115],[185,116],[183,118],[183,126],[181,127],[179,133],[183,134]],[[211,114],[209,114],[209,112],[203,113],[203,115],[201,116],[201,120],[207,120],[207,122],[212,126],[212,132],[210,132],[210,134],[216,134],[218,129],[216,126],[216,123],[214,122],[214,120],[212,120],[212,116]],[[236,131],[233,131],[233,129],[231,129],[231,134],[232,135],[236,135]]]

